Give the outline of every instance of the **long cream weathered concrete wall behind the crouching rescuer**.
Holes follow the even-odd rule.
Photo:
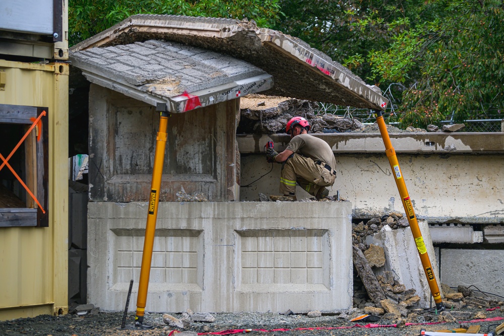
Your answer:
[[[496,133],[493,138],[485,133],[465,135],[465,138],[459,134],[456,139],[450,139],[455,136],[423,133],[392,139],[415,213],[431,223],[448,219],[466,223],[501,223],[504,220],[504,166],[502,154],[497,151],[497,140],[493,138],[500,137],[499,146],[502,148],[502,134]],[[380,217],[384,212],[404,212],[379,135],[339,133],[316,136],[328,141],[336,155],[336,182],[329,194],[339,190],[341,197],[352,203],[354,217],[371,218]],[[436,142],[437,147],[424,145],[441,136],[445,143]],[[475,139],[469,141],[471,137]],[[238,136],[237,139],[242,153],[240,199],[254,200],[259,192],[278,194],[281,165],[274,164],[271,173],[267,174],[272,164],[259,153],[269,139],[275,142],[278,152],[283,151],[288,137],[256,135]],[[487,145],[482,145],[485,139]],[[474,145],[470,148],[462,142]],[[492,147],[487,152],[485,146]],[[244,187],[262,175],[265,176]],[[309,197],[300,188],[297,193],[298,199]]]

